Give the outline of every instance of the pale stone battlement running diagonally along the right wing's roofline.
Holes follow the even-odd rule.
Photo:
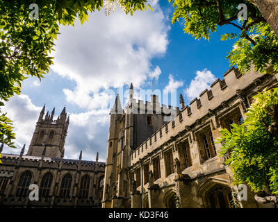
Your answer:
[[[188,129],[188,126],[192,126],[224,102],[238,95],[239,91],[250,86],[254,80],[261,78],[264,74],[260,74],[252,69],[242,75],[238,69],[231,67],[223,76],[224,79],[218,78],[211,84],[211,89],[205,89],[199,94],[199,99],[195,98],[190,101],[189,106],[186,105],[184,107],[184,104],[182,104],[181,107],[183,108],[181,111],[176,108],[174,119],[165,123],[154,135],[146,139],[145,142],[142,142],[131,153],[131,165],[152,153],[154,149],[167,143],[172,137],[179,135],[179,132]],[[181,99],[181,103],[183,103],[183,99]],[[165,109],[165,105],[162,105],[161,110],[163,110],[163,107]],[[172,111],[172,108],[167,110]]]

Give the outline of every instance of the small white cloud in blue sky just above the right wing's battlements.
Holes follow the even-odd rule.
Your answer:
[[[203,92],[204,89],[209,89],[211,83],[213,83],[215,80],[215,76],[208,69],[196,71],[195,78],[191,80],[189,87],[184,89],[184,93],[188,99],[199,97],[199,94]]]

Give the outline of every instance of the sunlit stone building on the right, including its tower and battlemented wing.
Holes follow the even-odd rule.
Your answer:
[[[247,200],[236,200],[224,165],[229,154],[220,157],[216,143],[220,128],[242,123],[252,96],[271,87],[275,75],[231,67],[190,106],[180,96],[180,109],[173,109],[157,96],[137,103],[131,85],[126,107],[117,96],[111,110],[102,207],[273,207],[257,203],[248,187]]]

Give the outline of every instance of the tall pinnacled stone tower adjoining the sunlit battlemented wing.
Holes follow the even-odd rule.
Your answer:
[[[165,124],[164,117],[171,112],[164,105],[160,107],[158,96],[152,95],[151,99],[152,102],[137,103],[133,99],[132,83],[124,109],[119,95],[116,96],[110,113],[102,207],[130,207],[130,187],[134,179],[129,175],[131,153]]]

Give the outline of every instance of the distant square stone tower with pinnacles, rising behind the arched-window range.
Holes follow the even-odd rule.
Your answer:
[[[53,119],[55,108],[51,114],[47,112],[45,116],[44,111],[45,105],[40,112],[27,155],[60,158],[64,151],[70,117],[67,117],[65,107],[56,120]]]

